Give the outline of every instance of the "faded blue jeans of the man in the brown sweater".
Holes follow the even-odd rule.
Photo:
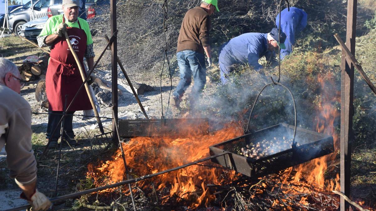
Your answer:
[[[191,98],[197,98],[202,92],[206,83],[205,57],[196,51],[184,50],[176,53],[177,64],[179,65],[180,81],[173,93],[174,97],[181,98],[185,90],[190,86],[193,75],[193,88]]]

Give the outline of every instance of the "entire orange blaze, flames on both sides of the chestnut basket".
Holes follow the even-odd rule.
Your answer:
[[[335,87],[333,78],[330,74],[318,77],[322,93],[316,103],[317,123],[315,130],[333,136],[335,150],[338,150],[338,134],[335,127],[340,112],[335,109],[334,102],[340,101],[340,94],[333,92],[333,88],[328,88],[328,86]],[[227,127],[207,136],[191,131],[190,136],[180,138],[137,137],[131,139],[129,143],[123,144],[123,149],[128,168],[131,170],[130,175],[133,178],[138,178],[208,157],[209,146],[241,135],[243,135],[242,125],[238,122],[232,122]],[[265,190],[269,188],[271,191],[281,190],[285,195],[302,194],[296,203],[308,205],[312,200],[310,196],[315,194],[312,190],[340,190],[338,174],[334,179],[325,180],[325,172],[331,170],[328,169],[327,162],[333,160],[334,157],[335,154],[326,155],[286,169],[280,172],[280,175],[282,175],[280,185],[267,187],[267,182],[261,182],[258,188],[255,188],[250,199],[253,199],[255,195],[266,194],[267,191]],[[208,164],[213,165],[209,161]],[[89,166],[88,172],[88,176],[94,179],[94,184],[97,186],[122,181],[126,179],[125,175],[120,150],[115,153],[111,160],[98,166]],[[155,190],[163,193],[162,204],[174,197],[177,202],[183,201],[188,205],[188,208],[192,209],[202,204],[208,205],[215,199],[215,195],[210,193],[208,184],[226,185],[236,177],[238,177],[238,174],[233,171],[193,165],[140,181],[137,183],[137,187],[149,191],[155,188]],[[292,184],[295,184],[294,188],[287,188],[291,187]],[[129,190],[124,190],[124,193],[127,191]],[[286,203],[285,199],[271,199],[270,202],[270,206],[275,209],[285,206]]]

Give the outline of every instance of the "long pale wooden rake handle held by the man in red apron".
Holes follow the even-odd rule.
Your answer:
[[[80,70],[80,74],[81,74],[82,82],[85,84],[86,93],[87,93],[87,95],[88,95],[88,98],[89,98],[89,101],[90,101],[91,107],[93,108],[94,115],[95,115],[95,117],[97,118],[97,123],[98,123],[98,125],[99,125],[99,130],[100,130],[100,132],[101,132],[102,134],[104,134],[105,131],[103,130],[102,121],[101,121],[100,118],[99,118],[98,110],[97,110],[97,107],[96,107],[96,105],[94,104],[94,100],[93,100],[93,97],[95,97],[95,96],[91,96],[91,93],[90,93],[90,90],[89,90],[89,84],[88,84],[88,82],[87,82],[86,79],[85,79],[85,71],[84,71],[84,69],[83,69],[83,67],[82,67],[82,65],[81,65],[80,60],[79,60],[78,57],[77,57],[76,51],[73,50],[72,44],[71,44],[70,41],[69,41],[68,33],[67,33],[67,32],[64,32],[64,36],[65,36],[65,40],[67,41],[67,44],[68,44],[69,50],[70,50],[71,53],[73,54],[74,60],[76,60],[76,63],[77,63],[78,69]],[[93,68],[93,69],[94,69],[94,68]],[[78,91],[78,92],[79,92],[79,91]],[[78,93],[78,92],[77,92],[77,93]]]

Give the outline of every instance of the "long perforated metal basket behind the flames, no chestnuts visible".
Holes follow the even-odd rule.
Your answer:
[[[208,118],[120,119],[119,133],[122,138],[138,136],[187,136],[191,134],[207,135],[209,133],[209,120]]]

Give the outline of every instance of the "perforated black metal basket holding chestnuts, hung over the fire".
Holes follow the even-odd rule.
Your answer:
[[[273,140],[274,137],[291,137],[293,133],[294,126],[282,123],[211,146],[209,147],[209,151],[210,155],[230,152],[229,154],[213,158],[212,161],[252,177],[276,173],[288,167],[334,152],[332,136],[298,127],[295,140],[300,146],[268,155],[258,160],[237,154],[242,147],[245,148],[249,143],[260,142],[263,139]]]

